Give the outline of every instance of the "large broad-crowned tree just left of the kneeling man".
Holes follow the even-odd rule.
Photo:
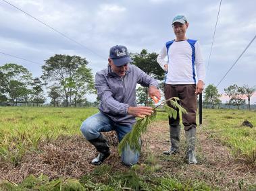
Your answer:
[[[68,106],[69,102],[71,104],[72,96],[76,97],[78,89],[91,88],[88,84],[93,82],[93,75],[87,65],[86,59],[80,56],[55,54],[45,61],[42,77],[46,81],[59,83]],[[81,83],[83,87],[79,87]]]

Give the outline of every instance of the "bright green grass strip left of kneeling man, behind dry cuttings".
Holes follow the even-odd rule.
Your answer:
[[[4,132],[30,132],[36,136],[74,135],[84,119],[97,112],[97,108],[0,108],[0,130]],[[2,136],[1,136],[2,137]],[[1,138],[0,138],[1,139]]]

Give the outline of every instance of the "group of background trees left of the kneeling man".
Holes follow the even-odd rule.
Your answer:
[[[80,56],[55,54],[42,66],[43,75],[33,78],[25,67],[7,63],[0,67],[0,102],[7,106],[39,106],[47,100],[47,89],[53,106],[81,106],[86,102],[85,95],[95,92],[93,73],[87,65]]]

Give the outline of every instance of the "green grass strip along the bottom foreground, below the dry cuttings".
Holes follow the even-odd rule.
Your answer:
[[[180,181],[165,175],[155,177],[141,169],[149,165],[135,165],[130,171],[122,172],[109,165],[100,165],[93,173],[85,174],[80,180],[72,178],[49,180],[47,176],[28,176],[20,184],[4,181],[1,190],[213,190],[202,181]]]

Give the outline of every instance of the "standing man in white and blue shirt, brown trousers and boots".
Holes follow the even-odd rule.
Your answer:
[[[188,20],[185,15],[176,15],[172,20],[172,28],[176,38],[165,43],[157,57],[157,63],[167,71],[164,94],[165,99],[180,98],[180,105],[186,109],[187,114],[182,114],[182,122],[186,133],[188,163],[196,164],[196,113],[197,95],[203,91],[205,80],[205,64],[201,48],[197,40],[186,38]],[[168,56],[168,61],[164,59]],[[196,81],[197,71],[197,81]],[[180,143],[180,117],[176,120],[170,118],[170,151],[166,155],[179,153]]]

